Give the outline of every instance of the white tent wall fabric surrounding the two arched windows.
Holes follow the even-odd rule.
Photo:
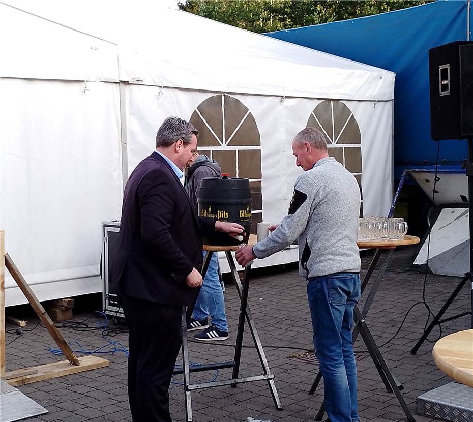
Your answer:
[[[189,119],[205,99],[217,93],[129,85],[129,172],[155,149],[156,131],[164,118]],[[321,100],[232,95],[255,118],[261,137],[263,220],[279,223],[286,215],[295,179],[291,141],[306,127]],[[362,139],[365,215],[386,215],[392,201],[392,103],[345,102],[356,117]],[[284,258],[285,259],[285,258]],[[283,263],[274,261],[271,264]]]

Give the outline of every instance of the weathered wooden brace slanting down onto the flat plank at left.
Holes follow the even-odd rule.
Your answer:
[[[31,287],[29,287],[28,283],[21,275],[20,270],[17,268],[17,266],[8,254],[5,254],[5,267],[8,269],[13,279],[16,281],[16,284],[18,284],[20,290],[28,299],[29,304],[35,310],[36,315],[38,315],[39,319],[49,331],[49,334],[54,339],[56,344],[60,347],[60,349],[63,351],[64,355],[67,357],[70,363],[73,365],[80,365],[76,355],[72,352],[71,348],[66,343],[59,330],[54,326],[54,323],[51,321],[51,318],[49,318],[49,315],[46,313],[43,306],[40,304],[35,293],[33,293],[33,290],[31,289]]]

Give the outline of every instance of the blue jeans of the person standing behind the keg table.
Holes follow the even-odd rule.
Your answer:
[[[205,252],[203,256],[205,257]],[[208,315],[210,315],[212,325],[220,331],[228,331],[225,299],[223,298],[222,286],[218,276],[217,252],[213,253],[210,260],[193,313],[193,317],[199,321],[206,319]]]

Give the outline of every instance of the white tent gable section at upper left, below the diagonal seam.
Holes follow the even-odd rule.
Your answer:
[[[0,76],[118,81],[116,45],[0,4]]]

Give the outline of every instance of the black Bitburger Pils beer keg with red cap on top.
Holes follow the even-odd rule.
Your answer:
[[[200,182],[197,198],[198,215],[214,220],[241,224],[246,235],[239,241],[226,233],[215,232],[212,237],[204,237],[206,245],[238,245],[248,243],[251,230],[250,182],[243,177],[204,177]]]

